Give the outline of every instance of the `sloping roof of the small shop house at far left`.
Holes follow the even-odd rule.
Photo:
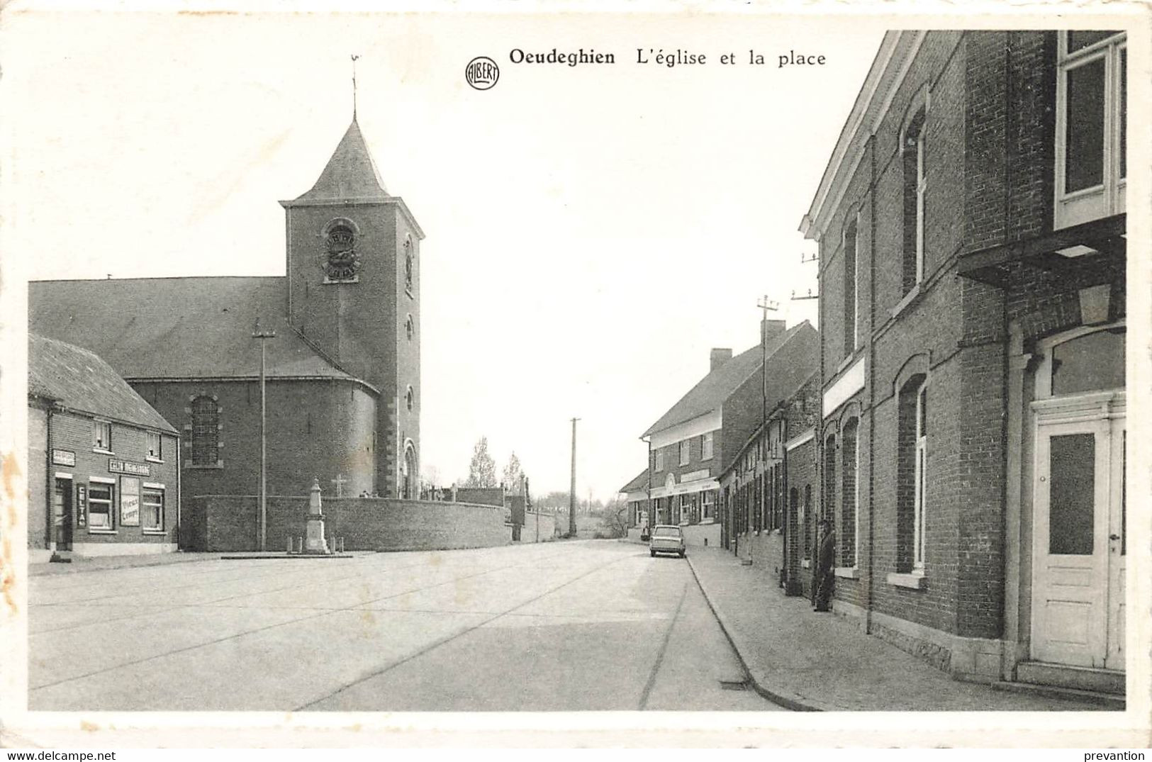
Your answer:
[[[29,334],[28,388],[29,393],[52,397],[71,410],[176,433],[111,365],[93,352],[62,341]]]

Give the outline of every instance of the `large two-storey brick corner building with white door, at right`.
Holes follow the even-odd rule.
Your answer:
[[[820,246],[834,608],[954,676],[1123,691],[1126,36],[885,36]]]

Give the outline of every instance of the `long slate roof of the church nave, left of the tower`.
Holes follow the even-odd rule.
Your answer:
[[[259,318],[276,332],[268,376],[353,379],[288,325],[286,290],[285,277],[33,281],[29,329],[96,352],[124,379],[251,378]]]

